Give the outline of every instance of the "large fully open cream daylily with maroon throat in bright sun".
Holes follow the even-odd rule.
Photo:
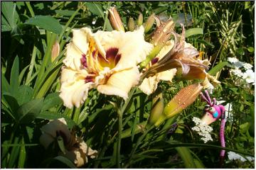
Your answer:
[[[64,106],[79,107],[92,88],[102,94],[128,98],[132,86],[139,83],[137,64],[146,58],[152,46],[144,40],[142,26],[126,33],[73,30],[60,77]]]

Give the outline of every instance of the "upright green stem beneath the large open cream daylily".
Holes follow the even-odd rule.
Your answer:
[[[122,115],[123,115],[124,111],[127,109],[127,106],[129,104],[129,101],[131,101],[131,99],[132,99],[134,91],[135,91],[135,88],[132,89],[132,91],[129,93],[129,97],[124,102],[124,105],[122,106],[122,108],[119,108],[117,110],[117,116],[118,116],[117,168],[121,168],[121,165],[120,165],[120,161],[121,161],[120,150],[121,150],[121,140],[122,140]]]

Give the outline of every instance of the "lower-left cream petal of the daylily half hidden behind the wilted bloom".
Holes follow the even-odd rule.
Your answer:
[[[156,76],[148,77],[142,81],[142,84],[139,86],[139,89],[141,89],[144,92],[144,94],[150,95],[156,90],[158,83],[159,79],[157,79]]]

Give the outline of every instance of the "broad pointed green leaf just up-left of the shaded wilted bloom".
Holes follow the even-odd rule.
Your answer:
[[[19,123],[31,123],[40,113],[42,107],[43,98],[33,99],[33,101],[23,104],[17,111]]]

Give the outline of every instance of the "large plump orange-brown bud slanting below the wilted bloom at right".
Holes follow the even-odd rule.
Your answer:
[[[171,101],[164,108],[164,114],[161,115],[159,120],[155,123],[156,126],[159,126],[167,118],[171,118],[174,115],[183,111],[184,108],[187,108],[191,105],[200,94],[203,86],[201,84],[191,84],[185,88],[178,91],[178,94],[171,99]]]

